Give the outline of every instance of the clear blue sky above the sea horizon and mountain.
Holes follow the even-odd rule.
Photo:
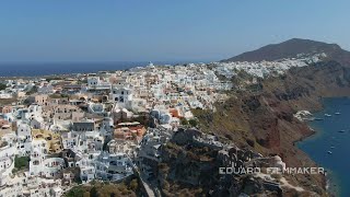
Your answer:
[[[311,38],[350,49],[349,0],[1,0],[0,61],[220,60]]]

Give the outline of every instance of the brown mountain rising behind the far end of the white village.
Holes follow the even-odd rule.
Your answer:
[[[295,58],[299,55],[314,55],[325,53],[326,60],[336,60],[350,66],[350,53],[337,44],[327,44],[310,39],[293,38],[280,44],[264,46],[257,50],[243,53],[238,56],[222,60],[230,61],[273,61],[283,58]]]

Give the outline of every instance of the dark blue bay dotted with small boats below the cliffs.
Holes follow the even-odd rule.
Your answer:
[[[340,112],[341,115],[335,115]],[[330,114],[331,117],[325,117]],[[316,135],[298,143],[319,166],[330,171],[330,190],[337,196],[350,196],[350,99],[325,99],[324,109],[315,117],[325,118],[315,120],[310,126]],[[346,130],[345,132],[338,132]],[[335,148],[331,149],[330,147]],[[328,154],[331,151],[332,154]]]

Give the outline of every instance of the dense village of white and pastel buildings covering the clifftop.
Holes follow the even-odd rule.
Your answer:
[[[215,109],[237,70],[252,81],[305,59],[279,62],[137,67],[69,78],[3,80],[0,100],[0,196],[61,196],[75,183],[152,176],[161,149],[191,109]],[[189,123],[189,124],[188,124]],[[200,143],[224,147],[215,136]],[[280,162],[280,161],[279,161]]]

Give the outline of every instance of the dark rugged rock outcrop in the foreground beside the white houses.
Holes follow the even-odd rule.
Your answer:
[[[260,178],[248,174],[219,174],[219,169],[232,166],[232,161],[243,166],[245,162],[260,159],[260,155],[236,147],[219,148],[210,143],[196,143],[192,140],[192,137],[198,136],[196,132],[200,134],[191,129],[179,130],[173,136],[172,142],[163,147],[162,163],[159,164],[156,173],[163,196],[238,196],[241,193],[280,196],[282,194],[279,187],[271,188]],[[272,160],[273,158],[264,161]]]

